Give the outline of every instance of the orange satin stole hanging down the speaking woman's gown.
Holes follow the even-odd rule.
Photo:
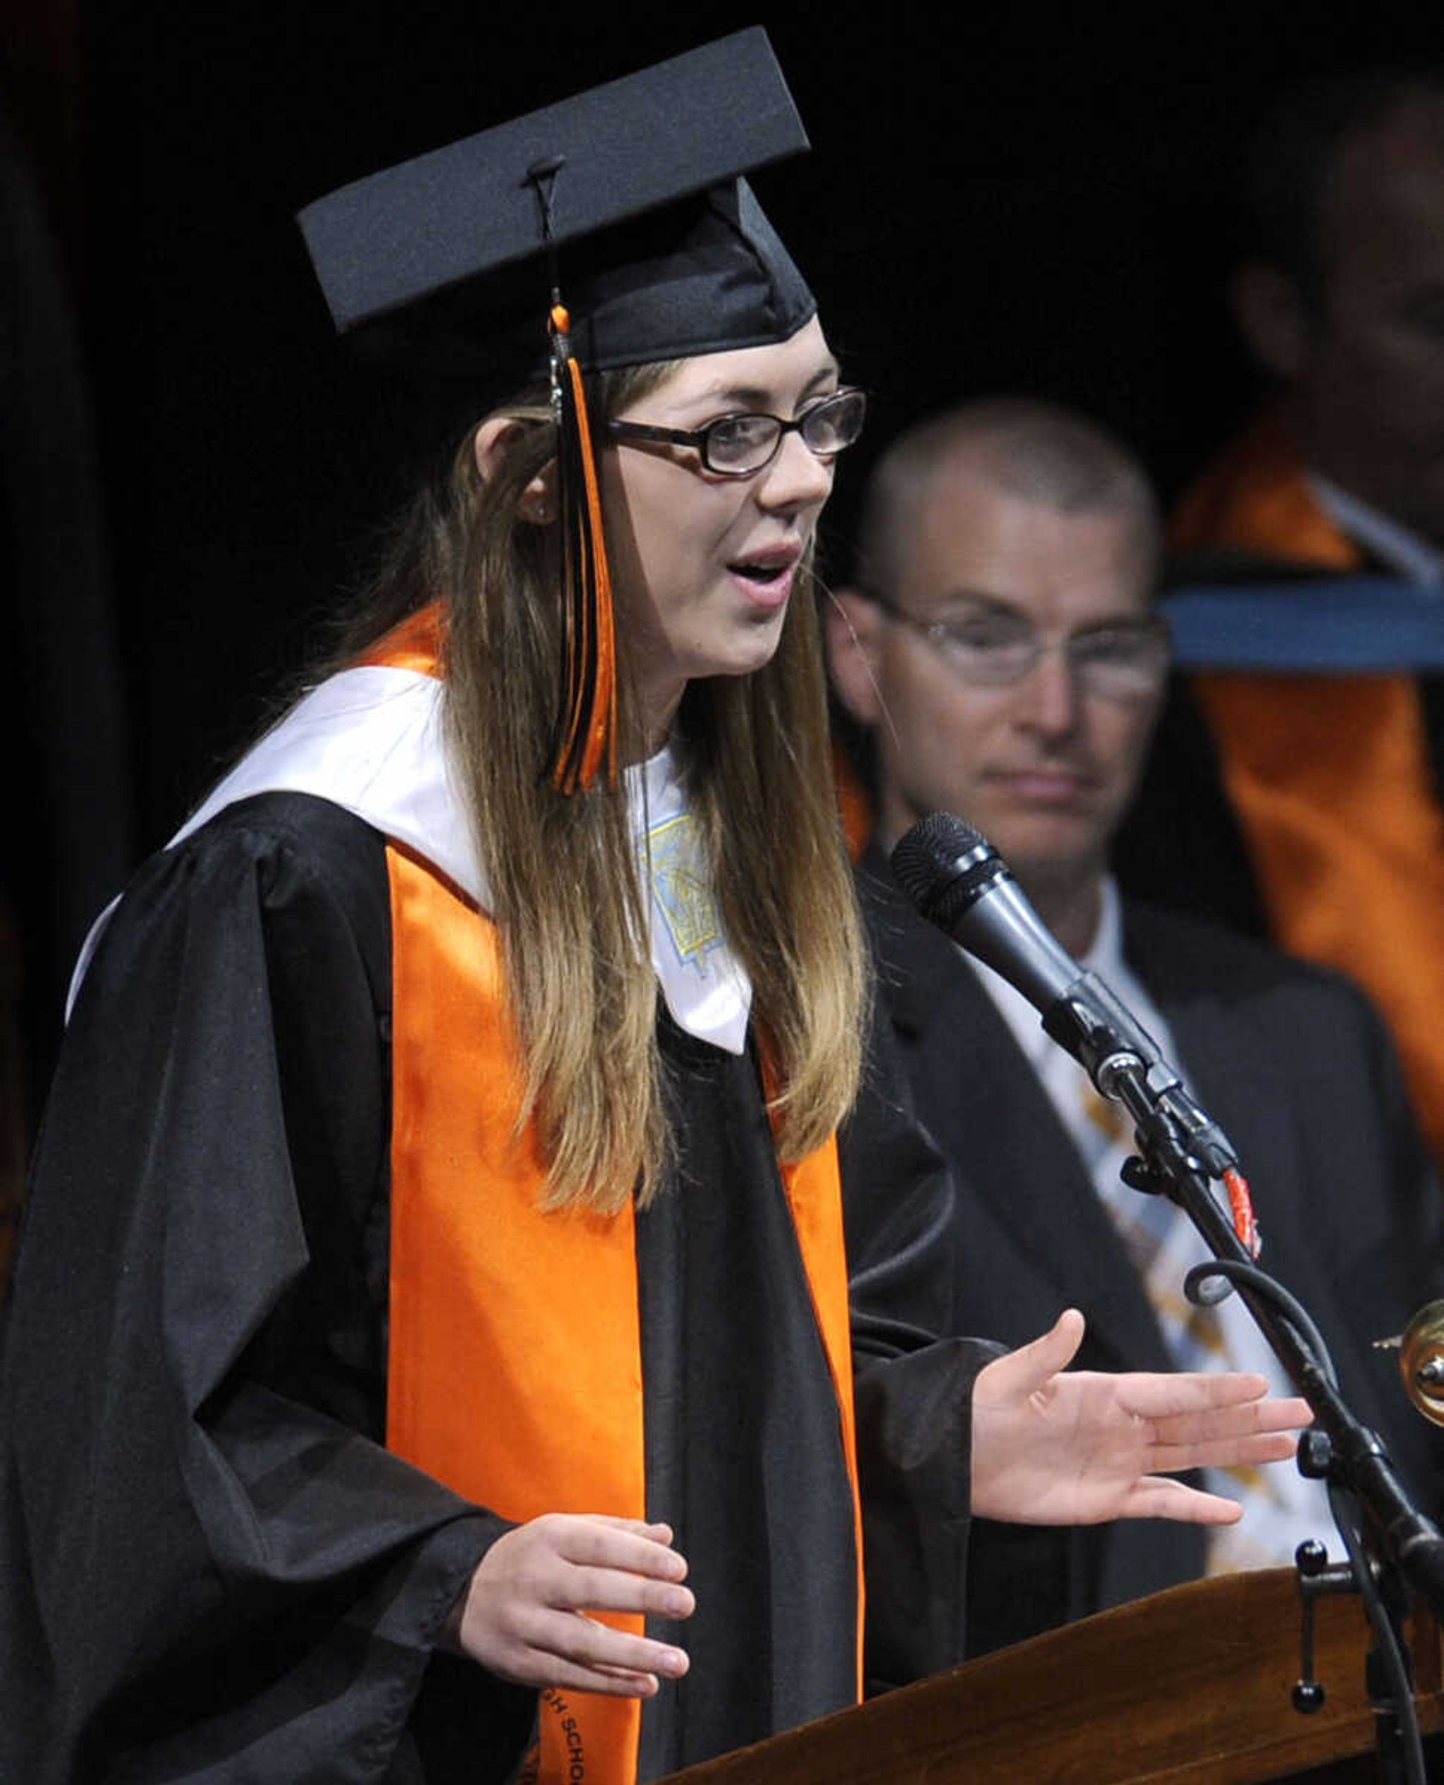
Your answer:
[[[369,662],[430,669],[436,621]],[[521,1069],[496,926],[425,860],[387,848],[393,923],[391,1341],[387,1444],[523,1521],[646,1517],[634,1214],[539,1207],[544,1160],[518,1132]],[[837,1148],[782,1167],[853,1483],[862,1542]],[[666,1515],[666,1508],[655,1508]],[[609,1617],[641,1630],[641,1619]],[[630,1785],[641,1706],[543,1698],[541,1785]],[[584,1773],[578,1773],[578,1765]]]

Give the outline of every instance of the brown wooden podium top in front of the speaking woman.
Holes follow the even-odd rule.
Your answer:
[[[1290,1701],[1299,1628],[1292,1569],[1194,1582],[687,1767],[668,1785],[1373,1780],[1364,1608],[1355,1594],[1315,1599],[1314,1673],[1326,1701],[1308,1717]],[[1408,1635],[1428,1737],[1444,1730],[1439,1626],[1421,1612]]]

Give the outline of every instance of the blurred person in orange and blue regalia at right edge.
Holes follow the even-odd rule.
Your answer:
[[[1169,582],[1212,600],[1180,607],[1198,668],[1119,876],[1357,978],[1440,1162],[1444,79],[1290,91],[1242,221],[1233,312],[1278,394],[1174,514]]]

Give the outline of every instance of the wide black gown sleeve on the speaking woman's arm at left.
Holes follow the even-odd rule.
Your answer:
[[[469,1776],[532,1696],[432,1660],[500,1519],[384,1449],[380,839],[303,796],[157,857],[37,1148],[0,1351],[0,1778]],[[453,1681],[452,1681],[453,1683]]]

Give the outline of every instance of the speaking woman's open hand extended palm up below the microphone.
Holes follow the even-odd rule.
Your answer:
[[[1083,1339],[1069,1308],[994,1358],[973,1389],[973,1512],[1016,1524],[1180,1519],[1233,1524],[1232,1499],[1167,1480],[1180,1469],[1282,1462],[1312,1421],[1246,1374],[1062,1374]]]

